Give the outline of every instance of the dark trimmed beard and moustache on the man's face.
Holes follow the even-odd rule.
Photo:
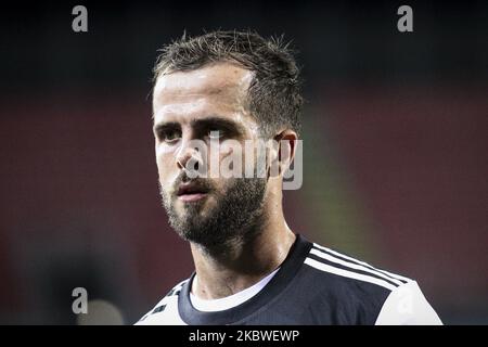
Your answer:
[[[176,183],[179,184],[182,180],[177,180]],[[217,194],[208,182],[196,180],[210,189],[211,194]],[[257,235],[265,219],[262,205],[266,179],[237,178],[230,184],[223,195],[216,196],[216,206],[206,211],[205,216],[201,214],[203,203],[200,202],[187,204],[183,216],[179,216],[172,201],[159,187],[163,205],[175,231],[183,240],[195,243],[209,253],[226,252]]]

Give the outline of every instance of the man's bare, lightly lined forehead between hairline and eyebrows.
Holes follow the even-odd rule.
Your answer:
[[[154,123],[221,117],[249,123],[244,99],[253,73],[230,63],[160,76],[154,87]]]

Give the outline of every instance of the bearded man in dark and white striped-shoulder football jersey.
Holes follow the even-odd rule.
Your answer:
[[[415,281],[310,243],[286,224],[283,176],[297,153],[303,99],[281,40],[183,37],[164,48],[154,72],[160,195],[170,224],[190,242],[195,272],[138,324],[441,323]],[[242,157],[228,141],[241,144]],[[229,157],[234,174],[252,177],[208,175],[221,174],[215,165]]]

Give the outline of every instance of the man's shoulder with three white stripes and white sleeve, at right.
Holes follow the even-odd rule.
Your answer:
[[[416,281],[313,243],[304,261],[318,297],[337,303],[350,323],[438,324]]]

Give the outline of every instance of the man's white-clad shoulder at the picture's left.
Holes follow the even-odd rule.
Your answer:
[[[152,325],[152,324],[184,324],[178,313],[178,296],[183,285],[189,279],[181,281],[175,285],[171,291],[160,299],[153,309],[145,313],[136,325]]]

